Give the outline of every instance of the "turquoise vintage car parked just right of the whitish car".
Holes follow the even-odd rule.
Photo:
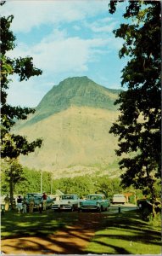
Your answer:
[[[107,211],[110,207],[110,202],[108,199],[105,199],[103,194],[92,194],[87,195],[85,201],[80,201],[79,211],[91,211],[95,210],[98,212]]]

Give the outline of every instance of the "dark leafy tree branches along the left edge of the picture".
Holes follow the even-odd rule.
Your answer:
[[[2,5],[3,3],[1,3]],[[20,154],[29,154],[36,147],[41,147],[42,139],[36,139],[32,143],[28,143],[26,137],[14,135],[11,127],[18,119],[26,119],[29,113],[34,113],[33,108],[12,107],[7,103],[7,90],[11,80],[11,75],[18,74],[20,81],[30,79],[31,76],[42,74],[40,69],[34,67],[32,57],[14,58],[7,56],[9,50],[14,49],[15,37],[10,31],[10,25],[14,19],[13,15],[1,18],[1,156],[17,158]]]

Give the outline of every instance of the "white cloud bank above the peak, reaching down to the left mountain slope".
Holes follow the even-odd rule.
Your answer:
[[[19,44],[19,47],[8,52],[8,56],[32,56],[34,65],[41,68],[43,74],[21,83],[14,79],[8,91],[8,103],[18,105],[19,102],[20,106],[35,107],[51,89],[54,79],[59,78],[60,81],[66,76],[83,75],[89,68],[88,63],[98,61],[108,43],[108,39],[102,38],[68,38],[65,31],[55,30],[30,48],[26,44]]]

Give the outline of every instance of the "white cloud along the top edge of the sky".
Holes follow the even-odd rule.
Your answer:
[[[14,32],[30,32],[32,27],[42,24],[59,24],[83,20],[101,14],[108,8],[104,1],[8,1],[3,6],[3,15],[14,15]]]

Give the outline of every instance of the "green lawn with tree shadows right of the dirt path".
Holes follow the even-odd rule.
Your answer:
[[[160,218],[152,226],[137,211],[105,214],[104,228],[96,232],[86,253],[161,254]]]

